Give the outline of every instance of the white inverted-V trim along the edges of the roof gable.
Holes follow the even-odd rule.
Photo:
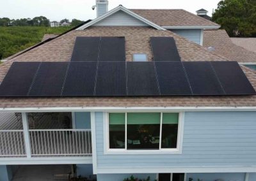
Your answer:
[[[84,30],[87,27],[92,26],[93,24],[96,24],[97,22],[100,22],[100,20],[103,20],[104,18],[109,17],[110,15],[113,15],[114,13],[116,13],[117,11],[124,11],[125,13],[127,13],[128,15],[131,15],[134,18],[137,18],[138,20],[141,20],[141,22],[144,22],[145,24],[148,24],[158,30],[166,30],[163,27],[154,24],[153,22],[150,22],[149,20],[147,20],[146,18],[141,17],[140,15],[137,15],[136,13],[128,10],[127,8],[125,8],[124,6],[120,5],[117,6],[116,8],[114,8],[113,10],[108,11],[108,13],[105,13],[104,15],[95,18],[94,20],[88,22],[87,24],[82,25],[81,27],[78,27],[76,30]]]

